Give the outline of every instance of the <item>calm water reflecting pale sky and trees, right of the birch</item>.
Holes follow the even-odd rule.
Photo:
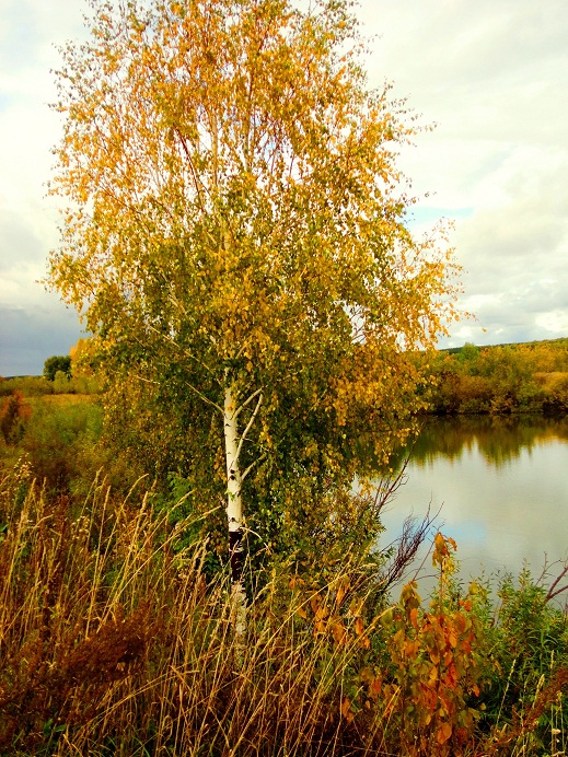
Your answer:
[[[568,419],[432,419],[383,514],[385,540],[429,505],[457,541],[464,581],[525,562],[540,575],[545,558],[568,556]]]

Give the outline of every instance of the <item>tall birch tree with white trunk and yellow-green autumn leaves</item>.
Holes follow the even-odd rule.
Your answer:
[[[447,246],[406,224],[411,117],[348,5],[93,0],[58,72],[49,281],[116,375],[190,404],[194,464],[224,458],[237,591],[246,482],[351,476],[452,315]]]

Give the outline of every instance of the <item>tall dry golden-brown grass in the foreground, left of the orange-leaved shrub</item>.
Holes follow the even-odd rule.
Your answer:
[[[376,741],[340,713],[356,642],[317,639],[305,595],[268,581],[243,643],[204,545],[174,555],[148,497],[116,502],[100,482],[73,512],[27,476],[0,491],[0,754],[359,755]]]

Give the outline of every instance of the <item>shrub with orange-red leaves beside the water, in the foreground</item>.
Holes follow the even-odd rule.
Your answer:
[[[473,748],[487,680],[484,627],[476,613],[478,586],[465,597],[450,593],[455,543],[437,534],[432,562],[438,590],[424,609],[416,582],[382,616],[390,664],[366,671],[369,692],[382,700],[389,731],[396,732],[404,755],[462,755]]]

